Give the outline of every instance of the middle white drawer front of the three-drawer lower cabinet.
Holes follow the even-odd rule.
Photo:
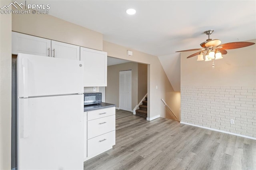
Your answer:
[[[116,129],[116,115],[102,117],[87,122],[87,137],[94,138],[101,134],[110,132]]]

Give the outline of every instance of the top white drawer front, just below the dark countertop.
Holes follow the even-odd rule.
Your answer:
[[[115,115],[116,114],[116,107],[110,107],[106,109],[99,109],[95,111],[89,111],[87,112],[87,120],[93,120],[93,119],[99,119],[102,117]]]

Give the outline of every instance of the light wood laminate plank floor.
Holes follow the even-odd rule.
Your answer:
[[[256,140],[116,110],[116,145],[84,170],[256,170]]]

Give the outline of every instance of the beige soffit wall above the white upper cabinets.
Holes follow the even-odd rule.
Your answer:
[[[12,15],[12,30],[102,51],[103,35],[44,14]]]

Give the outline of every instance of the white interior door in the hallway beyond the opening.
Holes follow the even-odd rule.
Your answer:
[[[132,111],[132,70],[119,72],[119,109]]]

